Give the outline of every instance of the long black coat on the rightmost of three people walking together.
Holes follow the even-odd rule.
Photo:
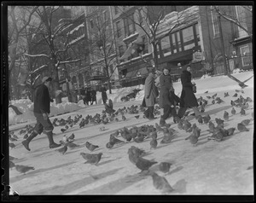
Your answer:
[[[193,84],[191,83],[191,73],[189,71],[183,71],[181,74],[181,83],[183,90],[180,96],[180,107],[198,107],[199,105],[192,89]]]

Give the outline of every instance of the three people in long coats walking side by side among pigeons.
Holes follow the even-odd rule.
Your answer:
[[[180,97],[175,95],[170,72],[169,67],[163,68],[163,72],[159,77],[159,94],[159,90],[155,84],[155,78],[157,78],[157,76],[154,74],[153,67],[148,67],[148,77],[145,80],[144,102],[148,109],[144,114],[148,119],[156,119],[154,117],[154,104],[159,95],[159,105],[161,109],[160,126],[166,125],[166,119],[168,119],[170,115],[173,116],[174,123],[177,123],[183,118],[187,108],[193,109],[195,118],[198,118],[201,114],[198,110],[199,105],[195,97],[195,92],[193,91],[195,83],[191,82],[191,67],[189,65],[185,67],[181,74],[183,89]],[[178,104],[179,110],[177,112],[176,107]]]

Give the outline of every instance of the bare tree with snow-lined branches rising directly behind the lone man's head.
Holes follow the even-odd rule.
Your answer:
[[[39,19],[42,21],[42,26],[38,28],[37,35],[38,44],[41,44],[41,49],[37,54],[26,53],[24,55],[29,56],[30,58],[40,57],[45,58],[46,61],[49,61],[49,71],[50,75],[53,77],[53,90],[57,92],[60,90],[59,83],[59,69],[61,65],[74,63],[81,61],[81,59],[67,60],[63,55],[67,53],[67,50],[71,48],[71,41],[73,36],[71,34],[63,35],[63,30],[67,26],[73,23],[72,19],[60,19],[61,7],[59,6],[40,6],[36,10]],[[41,64],[42,65],[42,64]],[[43,64],[42,66],[44,66]],[[57,101],[56,102],[61,102]]]

